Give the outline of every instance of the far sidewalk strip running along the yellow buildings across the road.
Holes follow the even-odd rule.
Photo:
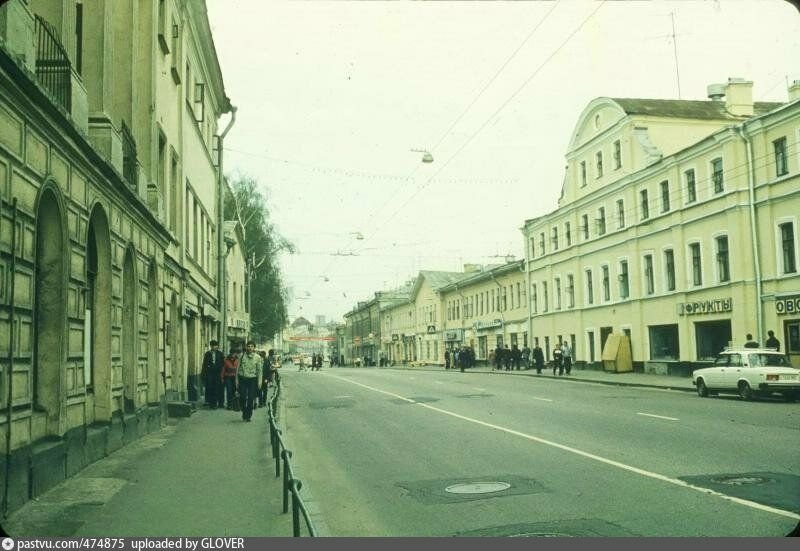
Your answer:
[[[366,368],[371,369],[371,368]],[[447,373],[459,373],[458,369],[446,370],[441,365],[426,365],[422,367],[410,367],[404,365],[395,365],[389,367],[379,367],[376,369],[400,369],[407,371],[444,371]],[[545,379],[566,379],[570,381],[581,381],[586,383],[599,383],[605,385],[617,386],[638,386],[650,388],[663,388],[670,390],[682,390],[694,392],[695,388],[692,384],[691,377],[676,377],[672,375],[656,375],[652,373],[613,373],[607,371],[600,371],[595,369],[575,369],[569,375],[553,375],[552,369],[542,370],[541,375],[536,374],[535,369],[519,371],[505,371],[494,370],[490,366],[478,366],[467,370],[470,373],[486,373],[488,375],[496,376],[518,376],[518,377],[541,377]]]

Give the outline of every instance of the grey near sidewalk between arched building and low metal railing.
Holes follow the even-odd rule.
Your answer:
[[[12,536],[291,537],[267,409],[170,419],[2,521]]]

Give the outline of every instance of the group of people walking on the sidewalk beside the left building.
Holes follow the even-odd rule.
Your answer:
[[[201,372],[206,406],[209,409],[241,409],[242,419],[249,422],[253,410],[266,405],[267,389],[277,381],[280,362],[275,351],[256,352],[256,343],[248,341],[244,353],[232,347],[223,357],[217,341],[212,340],[209,345],[210,349],[203,356]]]

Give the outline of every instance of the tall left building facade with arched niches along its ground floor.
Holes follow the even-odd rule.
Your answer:
[[[205,3],[84,7],[0,7],[5,510],[159,427],[219,331]]]

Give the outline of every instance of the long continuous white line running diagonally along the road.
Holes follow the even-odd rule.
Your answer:
[[[580,455],[587,459],[591,459],[593,461],[597,461],[599,463],[605,463],[606,465],[610,465],[612,467],[617,467],[624,471],[632,472],[647,478],[653,478],[655,480],[660,480],[662,482],[666,482],[668,484],[673,484],[675,486],[680,486],[682,488],[686,488],[688,490],[694,490],[696,492],[700,492],[702,494],[718,497],[720,499],[724,499],[726,501],[730,501],[732,503],[737,503],[739,505],[744,505],[745,507],[750,507],[751,509],[758,509],[759,511],[764,511],[766,513],[772,513],[775,515],[780,515],[782,517],[791,518],[794,520],[800,520],[800,515],[794,513],[792,511],[785,511],[783,509],[778,509],[776,507],[770,507],[769,505],[764,505],[762,503],[757,503],[755,501],[750,501],[749,499],[742,499],[739,497],[729,496],[727,494],[723,494],[721,492],[717,492],[716,490],[711,490],[709,488],[703,488],[702,486],[695,486],[694,484],[689,484],[688,482],[684,482],[683,480],[678,480],[677,478],[671,478],[669,476],[654,473],[652,471],[647,471],[645,469],[640,469],[638,467],[634,467],[632,465],[626,465],[625,463],[621,463],[619,461],[614,461],[613,459],[608,459],[605,457],[601,457],[599,455],[595,455],[593,453],[585,452],[583,450],[579,450],[577,448],[573,448],[570,446],[565,446],[564,444],[559,444],[558,442],[553,442],[552,440],[546,440],[544,438],[539,438],[538,436],[533,436],[531,434],[526,434],[524,432],[520,432],[514,429],[509,429],[507,427],[501,427],[500,425],[494,425],[492,423],[487,423],[486,421],[481,421],[479,419],[473,419],[472,417],[467,417],[465,415],[461,415],[459,413],[455,413],[452,411],[448,411],[446,409],[437,408],[436,406],[432,406],[430,404],[423,404],[421,402],[417,402],[410,398],[406,398],[405,396],[400,396],[399,394],[395,394],[394,392],[389,392],[387,390],[381,390],[379,388],[375,388],[369,385],[365,385],[363,383],[357,383],[356,381],[351,381],[349,379],[343,379],[341,377],[337,377],[336,375],[328,375],[329,377],[334,377],[335,379],[339,379],[345,383],[350,383],[354,385],[358,385],[360,387],[366,388],[367,390],[372,390],[373,392],[378,392],[380,394],[385,394],[387,396],[391,396],[392,398],[397,398],[399,400],[403,400],[410,404],[416,404],[420,407],[425,409],[429,409],[431,411],[436,411],[438,413],[442,413],[444,415],[449,415],[450,417],[455,417],[456,419],[461,419],[463,421],[467,421],[469,423],[474,423],[476,425],[480,425],[483,427],[487,427],[490,429],[494,429],[500,432],[505,432],[506,434],[510,434],[513,436],[519,436],[520,438],[525,438],[526,440],[531,440],[533,442],[538,442],[540,444],[544,444],[546,446],[551,446],[553,448],[557,448],[560,450],[564,450],[569,453],[574,453],[575,455]]]

